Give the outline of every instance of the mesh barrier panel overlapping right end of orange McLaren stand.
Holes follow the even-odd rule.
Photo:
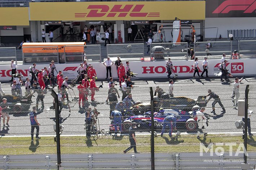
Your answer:
[[[69,52],[84,48],[84,52]],[[77,50],[78,51],[78,50]],[[101,45],[64,46],[65,63],[81,63],[86,56],[90,62],[101,62]]]

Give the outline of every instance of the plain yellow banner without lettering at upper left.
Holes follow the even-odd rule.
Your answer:
[[[0,26],[29,26],[28,7],[2,7],[0,16]]]

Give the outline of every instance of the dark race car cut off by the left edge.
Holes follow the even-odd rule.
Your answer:
[[[16,95],[2,95],[1,98],[7,99],[9,114],[27,112],[30,108],[30,104],[32,103],[32,94],[22,97]]]

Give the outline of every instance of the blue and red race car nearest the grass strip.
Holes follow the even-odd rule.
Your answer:
[[[186,112],[184,110],[179,109],[165,109],[160,110],[159,112],[154,112],[154,129],[155,130],[162,130],[163,128],[163,120],[168,115],[176,115],[179,116],[180,119],[177,120],[176,128],[178,130],[183,130],[187,132],[194,131],[198,128],[197,120],[193,119],[196,118],[194,115],[195,112]],[[151,130],[151,112],[146,112],[144,115],[136,115],[131,116],[124,120],[122,124],[122,130],[127,131],[131,127],[132,123],[137,123],[138,131],[147,131]],[[118,127],[119,129],[119,127]],[[110,125],[110,131],[113,131],[114,124]]]

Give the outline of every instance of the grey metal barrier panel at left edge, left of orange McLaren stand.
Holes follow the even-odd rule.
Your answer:
[[[14,60],[17,64],[16,47],[1,47],[0,48],[0,64],[10,64]]]

